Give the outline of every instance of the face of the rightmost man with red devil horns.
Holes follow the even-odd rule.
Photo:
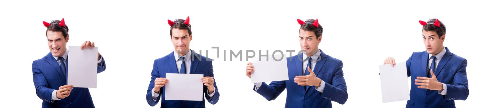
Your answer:
[[[444,49],[443,41],[445,40],[445,35],[442,35],[442,37],[439,38],[435,31],[426,30],[423,30],[422,35],[424,47],[429,54],[436,55]]]

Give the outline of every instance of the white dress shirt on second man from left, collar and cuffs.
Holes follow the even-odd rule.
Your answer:
[[[179,71],[181,70],[181,59],[180,59],[180,55],[177,54],[176,52],[174,52],[174,59],[176,59],[176,67],[178,69],[178,73]],[[191,66],[191,59],[192,59],[192,55],[191,55],[191,50],[188,51],[188,53],[186,53],[184,56],[182,57],[185,57],[185,71],[186,71],[186,74],[190,74],[190,66]],[[207,89],[207,91],[209,91],[209,89]],[[158,93],[155,93],[154,91],[150,91],[152,93],[152,99],[154,101],[157,100],[157,98],[159,97],[159,94]],[[209,95],[209,97],[213,97],[214,96],[214,93],[216,92],[216,89],[214,89],[214,92],[212,92],[212,94],[207,94]]]

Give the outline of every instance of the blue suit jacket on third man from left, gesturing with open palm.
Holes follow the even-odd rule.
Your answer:
[[[314,73],[326,82],[323,93],[315,90],[316,86],[310,86],[305,90],[304,86],[297,85],[293,81],[295,76],[302,75],[302,61],[299,60],[299,58],[303,59],[302,53],[287,57],[288,79],[290,80],[273,81],[269,85],[262,83],[257,91],[254,86],[254,91],[271,101],[287,88],[285,108],[331,108],[331,101],[345,104],[348,95],[341,60],[328,56],[323,51],[320,57],[321,60],[317,61],[314,67]]]

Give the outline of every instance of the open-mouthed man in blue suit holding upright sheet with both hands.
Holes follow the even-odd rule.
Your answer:
[[[69,50],[69,27],[64,19],[51,23],[43,21],[47,27],[46,36],[50,53],[33,61],[33,82],[36,95],[43,100],[42,108],[94,108],[88,88],[73,88],[67,85]],[[81,49],[95,47],[95,43],[85,41]],[[105,60],[97,55],[97,73],[105,70]]]

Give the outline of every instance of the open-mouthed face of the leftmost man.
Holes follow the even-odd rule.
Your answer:
[[[66,44],[69,42],[69,36],[64,38],[62,32],[47,31],[48,48],[52,55],[62,56],[66,53]]]

